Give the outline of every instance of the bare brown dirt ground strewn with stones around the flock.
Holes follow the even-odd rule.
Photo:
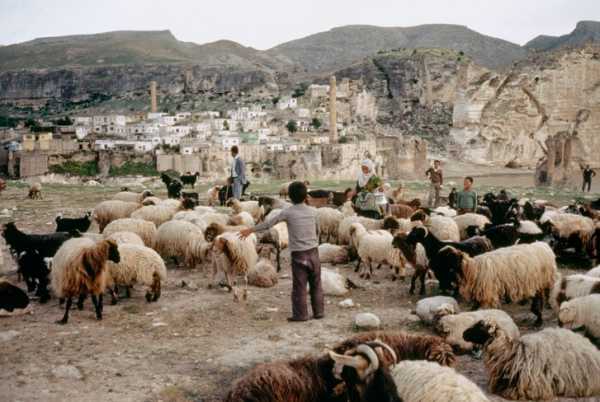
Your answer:
[[[31,201],[25,199],[25,187],[9,185],[0,194],[0,211],[7,208],[12,216],[0,222],[14,220],[27,232],[50,232],[57,213],[82,215],[117,191],[117,187],[45,186],[44,199]],[[97,227],[90,231],[97,232]],[[3,239],[0,248],[4,254],[0,276],[15,283],[16,267]],[[325,319],[288,323],[289,254],[284,258],[279,284],[251,288],[246,303],[234,303],[231,294],[207,289],[205,270],[174,266],[169,266],[157,303],[146,303],[144,290],[138,288],[131,299],[106,305],[102,321],[95,320],[88,301],[83,311],[75,309],[69,323],[60,326],[54,323],[62,316],[56,299],[45,305],[34,301],[33,314],[0,318],[0,400],[219,401],[236,378],[259,362],[320,353],[352,336],[353,317],[359,312],[377,314],[386,330],[432,333],[411,314],[419,297],[408,295],[408,281],[391,282],[386,269],[377,271],[372,281],[361,281],[350,266],[336,268],[364,286],[347,296],[356,307],[343,309],[338,306],[342,298],[327,297]],[[527,306],[505,308],[522,332],[531,330]],[[550,310],[544,318],[545,325],[556,325]],[[4,339],[6,334],[12,339]],[[76,369],[65,373],[62,366]],[[457,369],[486,389],[480,360],[461,356]]]

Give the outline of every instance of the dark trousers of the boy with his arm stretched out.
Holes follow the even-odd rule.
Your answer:
[[[310,288],[310,304],[313,316],[323,316],[325,303],[321,287],[321,261],[319,250],[292,252],[292,316],[298,320],[307,320],[306,284]]]

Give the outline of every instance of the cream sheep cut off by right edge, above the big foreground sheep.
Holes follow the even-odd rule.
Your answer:
[[[571,330],[583,329],[588,338],[600,339],[600,294],[563,302],[558,311],[558,325]]]

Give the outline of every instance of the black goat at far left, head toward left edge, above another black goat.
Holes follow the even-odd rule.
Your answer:
[[[17,229],[14,222],[4,225],[2,233],[6,244],[16,255],[24,251],[37,250],[43,257],[54,257],[59,247],[72,237],[81,236],[78,232],[57,232],[49,234],[26,234]]]

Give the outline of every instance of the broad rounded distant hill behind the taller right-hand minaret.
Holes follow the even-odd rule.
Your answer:
[[[420,25],[384,28],[351,25],[283,43],[268,51],[282,60],[302,65],[307,71],[326,71],[346,66],[380,50],[397,48],[447,48],[463,51],[476,63],[503,67],[526,56],[519,45],[477,33],[459,25]]]

